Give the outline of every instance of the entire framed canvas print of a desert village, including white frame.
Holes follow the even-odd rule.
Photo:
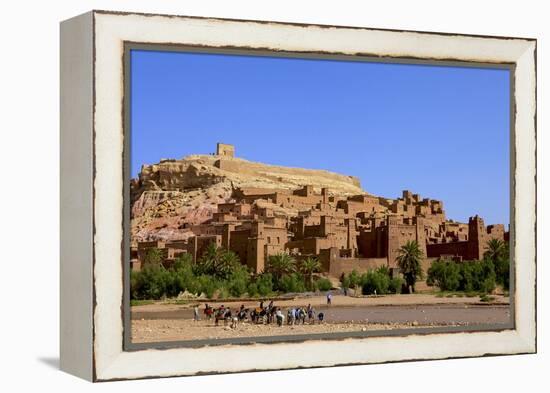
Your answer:
[[[536,351],[536,40],[61,24],[61,368]]]

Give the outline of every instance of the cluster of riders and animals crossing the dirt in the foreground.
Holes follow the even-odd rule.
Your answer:
[[[330,304],[330,303],[329,303]],[[310,324],[315,323],[317,317],[319,323],[324,321],[324,313],[316,313],[315,309],[308,304],[307,307],[291,307],[287,309],[286,316],[283,314],[281,307],[277,307],[273,304],[273,300],[269,302],[267,306],[261,301],[259,306],[250,310],[241,305],[239,309],[233,311],[230,307],[225,307],[223,304],[218,308],[213,308],[208,303],[205,303],[203,314],[207,320],[214,318],[214,325],[219,326],[220,321],[223,321],[224,326],[228,324],[232,329],[237,327],[239,322],[250,320],[253,323],[271,324],[276,322],[278,326],[283,326],[285,323],[288,325],[295,325],[306,323],[306,318]],[[195,321],[200,320],[199,306],[196,305],[193,309],[193,319]]]

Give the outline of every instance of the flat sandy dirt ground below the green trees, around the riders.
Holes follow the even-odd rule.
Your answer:
[[[434,295],[391,295],[355,298],[334,296],[327,307],[324,296],[276,300],[286,310],[311,304],[326,315],[325,322],[305,325],[257,325],[240,323],[235,329],[204,319],[204,300],[188,304],[150,304],[132,307],[132,341],[135,343],[219,339],[254,336],[316,334],[414,327],[467,326],[472,324],[506,323],[510,312],[508,298],[496,296],[492,304],[479,302],[479,297],[436,297]],[[213,307],[218,302],[208,302]],[[236,310],[241,304],[256,307],[258,301],[224,302]],[[267,302],[266,302],[267,303]],[[192,320],[192,307],[200,304],[201,321]],[[284,312],[286,315],[286,312]]]

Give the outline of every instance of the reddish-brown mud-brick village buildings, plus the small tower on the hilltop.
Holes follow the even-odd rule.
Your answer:
[[[232,145],[219,143],[214,165],[237,165],[234,154]],[[256,273],[265,269],[269,256],[287,252],[297,259],[316,257],[326,273],[339,276],[353,269],[396,269],[399,249],[408,241],[418,243],[429,264],[440,257],[481,259],[490,239],[508,239],[502,224],[485,226],[477,215],[468,223],[448,220],[441,201],[408,190],[389,199],[331,195],[327,187],[311,185],[293,190],[236,187],[231,201],[219,203],[211,219],[188,229],[186,240],[137,244],[133,268],[143,264],[151,247],[161,249],[170,264],[182,253],[196,262],[214,243],[235,252]]]

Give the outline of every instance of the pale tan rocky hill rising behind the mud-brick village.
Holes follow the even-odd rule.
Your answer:
[[[184,227],[212,217],[238,187],[293,190],[328,187],[333,195],[364,194],[353,176],[290,168],[217,155],[192,155],[144,165],[131,182],[132,240],[185,239]],[[297,214],[297,212],[286,212]]]

